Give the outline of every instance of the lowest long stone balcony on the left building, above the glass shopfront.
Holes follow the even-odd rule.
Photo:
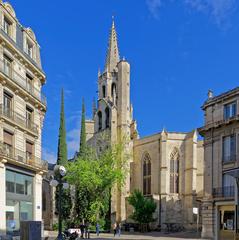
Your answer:
[[[0,161],[28,168],[30,170],[47,171],[48,162],[33,154],[23,152],[7,144],[0,142]]]

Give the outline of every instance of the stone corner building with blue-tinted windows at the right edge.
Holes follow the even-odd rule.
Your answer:
[[[239,88],[213,97],[209,92],[202,109],[204,137],[204,197],[202,236],[234,239],[235,180],[226,172],[239,167]]]

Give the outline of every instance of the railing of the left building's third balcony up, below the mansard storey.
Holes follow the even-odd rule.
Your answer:
[[[9,77],[12,81],[14,81],[17,85],[26,90],[31,96],[37,98],[46,106],[46,97],[41,91],[36,89],[32,84],[29,84],[26,76],[20,75],[16,72],[11,64],[6,65],[2,60],[0,60],[0,72],[5,76]]]

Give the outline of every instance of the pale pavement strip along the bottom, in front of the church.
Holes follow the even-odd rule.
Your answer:
[[[91,239],[99,239],[99,240],[108,240],[108,239],[123,239],[123,240],[197,240],[201,239],[200,237],[197,237],[196,233],[177,233],[177,234],[167,234],[167,233],[159,233],[159,232],[151,232],[147,234],[141,234],[141,233],[132,233],[132,234],[122,234],[120,237],[116,236],[114,237],[113,234],[100,234],[99,237],[97,237],[95,234],[91,234]],[[51,237],[49,240],[55,240],[56,237]]]

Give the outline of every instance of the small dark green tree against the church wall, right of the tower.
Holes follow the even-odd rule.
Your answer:
[[[139,190],[134,190],[129,196],[128,202],[134,208],[134,212],[131,216],[133,220],[140,224],[146,224],[153,221],[153,213],[157,207],[153,199],[144,197]]]

